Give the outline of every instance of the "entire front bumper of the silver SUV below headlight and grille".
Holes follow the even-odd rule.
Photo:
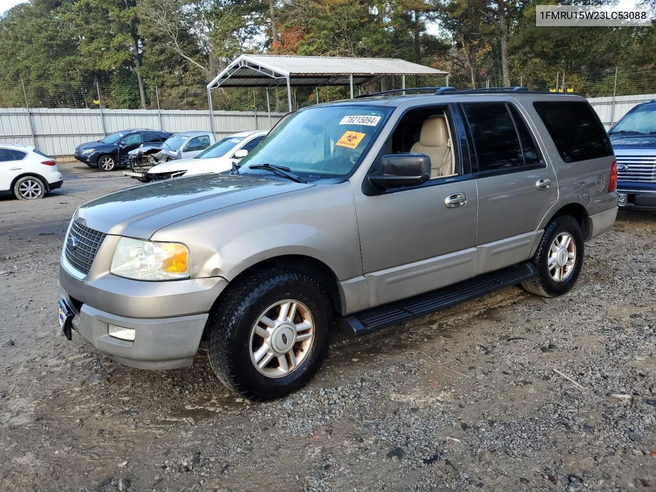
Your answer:
[[[116,361],[140,369],[191,365],[209,310],[228,285],[220,277],[137,281],[94,272],[95,263],[82,277],[67,263],[62,258],[60,297],[74,314],[73,329]],[[110,336],[110,323],[133,329],[134,341]]]

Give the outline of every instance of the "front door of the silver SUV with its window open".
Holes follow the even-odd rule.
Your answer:
[[[434,125],[425,122],[435,118],[443,118],[440,125],[442,129],[446,125],[449,142],[428,132]],[[478,194],[461,129],[459,116],[449,106],[410,110],[400,119],[370,173],[376,172],[382,155],[410,152],[413,147],[422,148],[421,144],[428,146],[422,154],[432,154],[433,168],[443,166],[455,173],[380,194],[355,190],[363,274],[371,307],[476,275]],[[444,145],[451,148],[451,169]]]

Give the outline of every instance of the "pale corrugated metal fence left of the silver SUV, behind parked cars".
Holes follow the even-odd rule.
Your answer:
[[[284,113],[215,111],[214,131],[219,138],[244,130],[268,130]],[[171,133],[211,131],[209,112],[196,110],[73,110],[0,108],[0,142],[36,146],[48,155],[72,155],[83,142],[129,128]]]

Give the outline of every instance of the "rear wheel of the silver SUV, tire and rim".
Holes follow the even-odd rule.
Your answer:
[[[531,294],[556,297],[569,291],[581,273],[585,244],[579,222],[571,215],[552,220],[531,262],[537,276],[522,282]]]

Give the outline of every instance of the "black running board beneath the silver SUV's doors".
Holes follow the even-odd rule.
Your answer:
[[[340,319],[340,328],[347,336],[359,337],[382,327],[398,325],[403,321],[500,291],[533,276],[535,276],[533,266],[529,263],[520,263],[435,291],[345,316]]]

